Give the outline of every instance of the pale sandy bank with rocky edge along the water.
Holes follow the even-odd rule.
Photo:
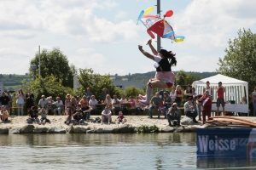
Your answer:
[[[107,123],[92,122],[98,116],[91,116],[90,121],[84,125],[67,125],[64,123],[65,116],[48,116],[50,123],[41,124],[26,123],[27,116],[10,116],[9,122],[0,123],[0,133],[137,133],[138,127],[158,127],[158,133],[173,132],[195,132],[196,127],[201,126],[201,122],[195,124],[189,117],[182,116],[180,127],[170,127],[166,119],[148,116],[125,116],[125,124],[112,122]],[[113,120],[117,116],[112,116]],[[145,130],[145,133],[155,132]]]

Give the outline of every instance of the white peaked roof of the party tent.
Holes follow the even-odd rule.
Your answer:
[[[207,77],[204,79],[201,79],[199,81],[193,82],[193,84],[206,84],[207,81],[210,82],[210,84],[218,84],[218,82],[222,82],[222,84],[247,84],[247,82],[237,80],[236,78],[226,77],[224,75],[218,74],[213,77]]]

